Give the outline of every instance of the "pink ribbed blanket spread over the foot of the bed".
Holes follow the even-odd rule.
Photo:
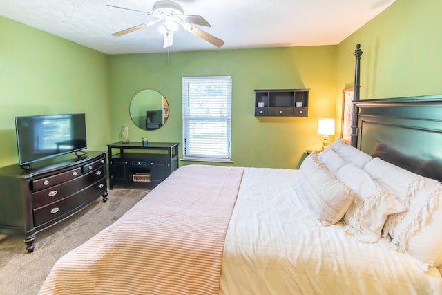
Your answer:
[[[55,264],[39,294],[218,294],[243,168],[189,165]]]

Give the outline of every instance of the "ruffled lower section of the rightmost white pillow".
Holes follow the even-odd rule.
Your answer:
[[[392,247],[410,254],[419,266],[442,265],[442,184],[423,178],[408,211],[392,217]]]

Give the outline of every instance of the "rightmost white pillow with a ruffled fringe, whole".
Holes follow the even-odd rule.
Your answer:
[[[407,208],[385,222],[384,235],[392,239],[392,248],[410,254],[423,270],[442,265],[442,184],[379,158],[364,170]]]

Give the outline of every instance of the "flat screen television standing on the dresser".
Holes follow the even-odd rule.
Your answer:
[[[30,169],[33,162],[87,148],[84,113],[15,117],[15,131],[23,169]]]

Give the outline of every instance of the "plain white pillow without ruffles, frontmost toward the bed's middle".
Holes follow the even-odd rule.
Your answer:
[[[352,189],[338,180],[316,153],[302,162],[295,189],[323,225],[338,222],[355,198]]]

